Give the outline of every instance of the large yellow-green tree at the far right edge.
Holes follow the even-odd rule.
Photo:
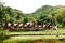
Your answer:
[[[61,24],[63,27],[65,26],[65,8],[60,8],[57,10],[56,20],[58,24]]]

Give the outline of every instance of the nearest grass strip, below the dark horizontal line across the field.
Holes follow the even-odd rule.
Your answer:
[[[21,35],[11,37],[3,43],[64,43],[65,35]]]

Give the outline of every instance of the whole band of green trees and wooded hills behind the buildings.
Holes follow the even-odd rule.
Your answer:
[[[5,23],[27,23],[35,22],[39,25],[43,23],[65,27],[65,6],[43,5],[31,14],[24,14],[22,11],[10,6],[0,5],[0,28]]]

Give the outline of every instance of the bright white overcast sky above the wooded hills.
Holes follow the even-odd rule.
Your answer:
[[[18,9],[23,13],[32,13],[42,5],[65,5],[65,0],[2,0],[5,5]]]

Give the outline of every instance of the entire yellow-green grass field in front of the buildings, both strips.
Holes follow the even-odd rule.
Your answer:
[[[10,32],[3,43],[65,43],[65,29]]]

